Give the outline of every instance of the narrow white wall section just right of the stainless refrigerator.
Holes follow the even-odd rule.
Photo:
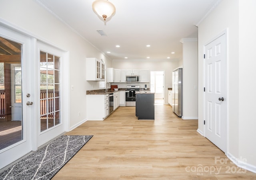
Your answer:
[[[182,38],[182,119],[198,119],[198,42]]]

